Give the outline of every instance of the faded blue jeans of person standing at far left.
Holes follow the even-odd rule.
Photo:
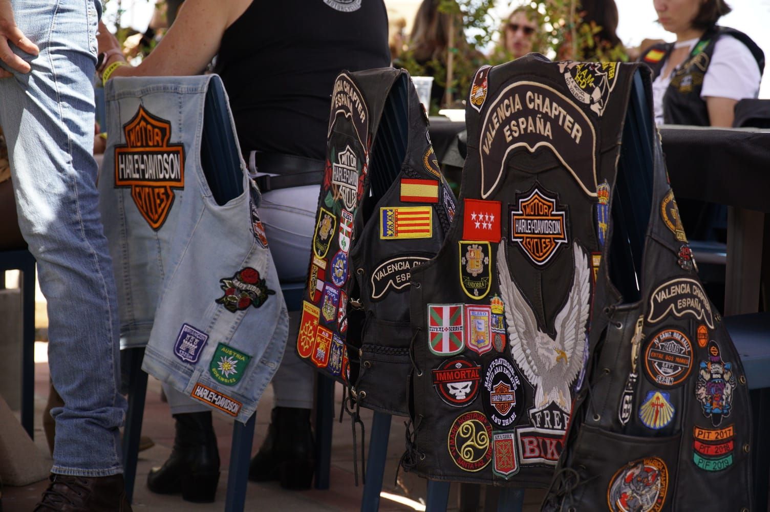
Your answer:
[[[115,283],[97,209],[92,157],[99,0],[12,0],[16,24],[39,46],[28,75],[0,80],[18,222],[48,300],[49,366],[65,407],[53,473],[122,472]],[[5,66],[4,66],[5,67]],[[5,69],[8,69],[7,67]]]

